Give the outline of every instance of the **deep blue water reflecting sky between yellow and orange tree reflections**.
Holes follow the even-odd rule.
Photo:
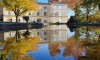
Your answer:
[[[60,52],[56,56],[50,54],[48,47],[48,44],[39,44],[38,50],[31,51],[29,55],[35,60],[74,60],[72,56],[63,57],[64,47],[59,48]]]

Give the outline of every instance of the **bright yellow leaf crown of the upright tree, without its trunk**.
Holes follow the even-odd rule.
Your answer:
[[[11,2],[11,3],[10,3]],[[3,0],[4,6],[8,10],[37,10],[36,0]]]

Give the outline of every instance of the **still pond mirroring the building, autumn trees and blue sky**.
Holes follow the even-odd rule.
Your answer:
[[[99,26],[73,32],[66,25],[0,32],[0,60],[100,60],[99,51]]]

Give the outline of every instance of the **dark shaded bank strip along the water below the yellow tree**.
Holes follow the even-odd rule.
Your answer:
[[[0,31],[13,31],[23,29],[40,29],[43,23],[16,23],[16,22],[0,22]]]

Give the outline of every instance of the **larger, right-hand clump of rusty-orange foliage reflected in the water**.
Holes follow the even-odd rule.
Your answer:
[[[63,56],[73,56],[75,59],[82,56],[82,51],[84,51],[84,47],[82,47],[80,42],[76,42],[73,37],[68,38],[65,49],[63,51]]]

